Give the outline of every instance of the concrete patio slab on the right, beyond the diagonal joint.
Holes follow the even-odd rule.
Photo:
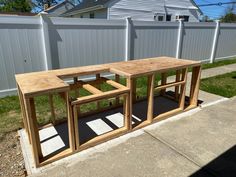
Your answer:
[[[214,162],[221,154],[236,145],[235,107],[236,98],[233,98],[206,107],[197,114],[178,121],[167,122],[158,128],[147,127],[144,130],[192,159],[199,166],[210,168],[210,171],[217,176],[225,176],[231,173],[232,169],[235,175],[235,156],[224,159],[223,163],[221,161],[220,164],[213,163],[208,166],[210,162]]]

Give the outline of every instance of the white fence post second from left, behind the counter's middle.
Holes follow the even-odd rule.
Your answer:
[[[131,48],[131,17],[126,18],[126,31],[125,31],[125,61],[130,60]]]

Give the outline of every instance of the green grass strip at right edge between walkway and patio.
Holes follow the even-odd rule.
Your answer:
[[[236,96],[236,71],[202,79],[200,89],[227,98]]]

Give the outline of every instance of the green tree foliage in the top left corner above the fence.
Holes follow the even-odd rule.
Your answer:
[[[30,0],[0,0],[1,12],[30,12]]]

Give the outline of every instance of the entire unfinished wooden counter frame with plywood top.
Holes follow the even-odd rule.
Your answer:
[[[192,79],[190,85],[189,103],[186,104],[186,83],[187,71],[192,68]],[[167,83],[167,72],[176,71],[175,82]],[[111,72],[115,74],[115,81],[101,77],[101,73]],[[155,86],[155,75],[161,75],[161,84]],[[103,65],[93,65],[84,67],[75,67],[27,74],[16,75],[18,87],[18,95],[21,104],[24,128],[29,137],[32,146],[33,157],[37,167],[51,163],[57,159],[68,156],[72,153],[81,151],[98,143],[107,141],[108,139],[120,136],[124,133],[139,129],[149,125],[152,122],[163,120],[171,115],[177,114],[195,108],[198,104],[198,92],[201,74],[201,63],[190,60],[174,59],[170,57],[148,58],[141,60],[133,60],[128,62],[117,62]],[[92,81],[79,80],[81,76],[95,75],[96,79]],[[120,76],[126,78],[126,86],[119,83]],[[136,80],[138,77],[147,76],[147,119],[136,127],[132,127],[132,110],[133,103],[136,99]],[[73,84],[66,83],[63,79],[73,79]],[[102,92],[100,84],[107,83],[115,88],[112,91]],[[174,100],[179,102],[177,109],[163,113],[154,117],[154,92],[160,90],[160,94],[167,96],[165,91],[169,87],[175,87]],[[78,89],[83,88],[92,95],[81,97]],[[77,98],[70,99],[69,91],[74,90]],[[53,122],[55,123],[55,112],[52,94],[59,94],[66,103],[69,148],[52,156],[43,157],[39,128],[35,112],[34,97],[40,95],[48,95],[51,108]],[[97,102],[97,111],[104,111],[100,106],[99,100],[106,98],[115,98],[115,106],[122,106],[119,97],[123,97],[124,107],[124,127],[100,135],[85,144],[79,143],[78,116],[81,117],[81,104],[89,102]],[[95,113],[95,112],[93,112]]]

